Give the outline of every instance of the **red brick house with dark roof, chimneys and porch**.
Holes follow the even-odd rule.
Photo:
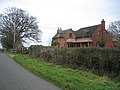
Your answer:
[[[57,34],[52,38],[58,47],[116,47],[109,33],[105,30],[105,21],[101,24],[80,28],[73,31],[71,28],[62,30],[58,28]]]

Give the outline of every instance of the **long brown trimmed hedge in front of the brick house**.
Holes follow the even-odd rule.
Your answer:
[[[120,49],[31,46],[29,55],[98,75],[120,75]]]

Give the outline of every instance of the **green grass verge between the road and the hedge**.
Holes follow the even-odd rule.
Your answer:
[[[115,83],[108,77],[100,77],[89,72],[64,68],[30,58],[27,55],[17,54],[15,61],[64,90],[120,90],[120,83]]]

